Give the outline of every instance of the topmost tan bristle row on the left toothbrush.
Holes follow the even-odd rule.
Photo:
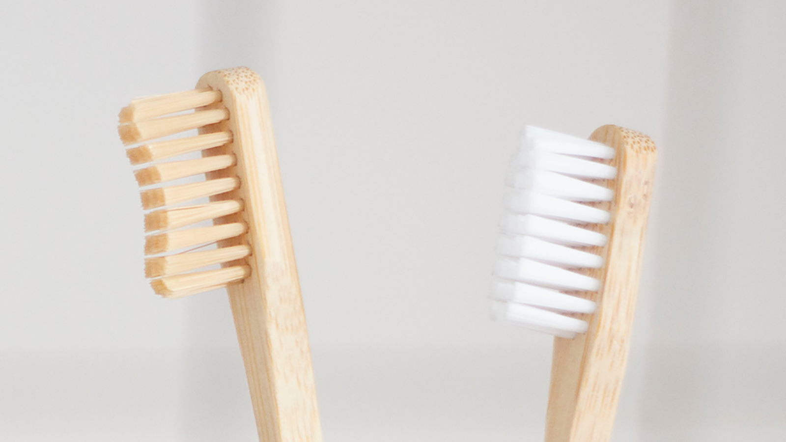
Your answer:
[[[158,95],[131,101],[120,110],[120,123],[150,120],[174,112],[206,106],[221,100],[218,90],[185,90],[174,94]]]

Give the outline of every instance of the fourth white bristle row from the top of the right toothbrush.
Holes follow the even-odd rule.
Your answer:
[[[575,223],[605,224],[611,219],[611,215],[600,208],[549,197],[532,190],[510,190],[505,195],[505,206],[513,212],[565,219]]]

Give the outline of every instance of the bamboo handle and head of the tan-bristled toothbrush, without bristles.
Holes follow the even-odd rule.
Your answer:
[[[262,79],[248,68],[208,72],[197,88],[220,90],[230,119],[201,129],[229,130],[233,141],[207,155],[233,153],[237,166],[208,178],[237,175],[241,187],[212,201],[239,199],[244,209],[216,223],[243,222],[251,246],[252,273],[227,288],[248,378],[259,440],[321,442],[314,372],[308,345],[303,300],[289,233],[289,221],[278,169],[270,109]],[[229,263],[232,265],[233,263]]]

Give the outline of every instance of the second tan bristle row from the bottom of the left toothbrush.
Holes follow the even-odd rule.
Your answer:
[[[248,245],[233,245],[204,252],[178,253],[145,260],[145,276],[158,278],[164,275],[179,274],[214,264],[241,260],[251,253]]]

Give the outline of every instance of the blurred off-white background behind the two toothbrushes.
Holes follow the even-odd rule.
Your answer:
[[[542,440],[551,340],[488,319],[526,123],[659,145],[614,440],[786,437],[783,2],[14,2],[0,440],[255,440],[224,293],[160,300],[130,98],[266,80],[327,441]]]

